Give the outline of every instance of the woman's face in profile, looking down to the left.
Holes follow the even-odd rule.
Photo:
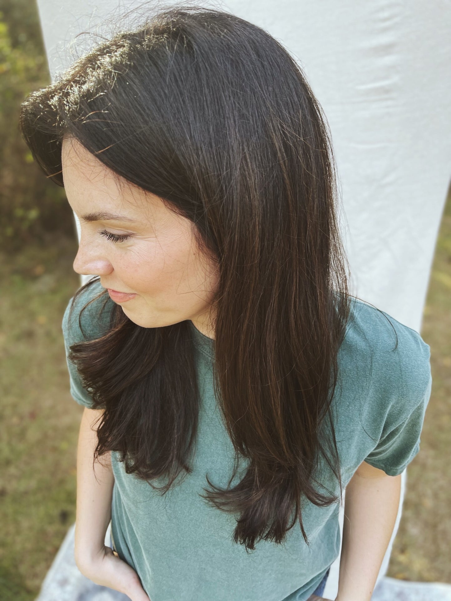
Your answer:
[[[73,269],[100,276],[104,288],[134,293],[126,301],[113,300],[143,328],[190,319],[214,338],[207,319],[216,266],[196,248],[193,223],[154,194],[127,182],[117,185],[111,171],[75,139],[63,139],[61,159],[67,200],[81,225]],[[111,234],[124,238],[114,242]]]

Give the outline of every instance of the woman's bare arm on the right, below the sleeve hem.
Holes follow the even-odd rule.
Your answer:
[[[336,601],[370,601],[399,508],[401,475],[362,462],[346,487]]]

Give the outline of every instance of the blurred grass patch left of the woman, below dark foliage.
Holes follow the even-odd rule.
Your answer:
[[[82,407],[69,394],[61,319],[79,286],[76,240],[0,256],[0,599],[36,598],[75,520]]]

